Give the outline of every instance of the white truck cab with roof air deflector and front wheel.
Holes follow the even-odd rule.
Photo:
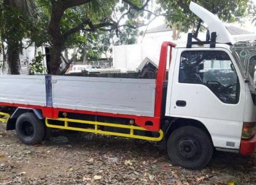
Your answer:
[[[183,118],[188,125],[203,123],[215,149],[250,155],[256,142],[256,42],[234,43],[218,17],[194,2],[190,9],[209,26],[212,36],[199,41],[191,34],[186,46],[175,47],[165,116]],[[197,154],[211,155],[209,147],[199,144],[203,134],[197,137],[193,132],[181,129],[172,139],[178,152],[168,150],[173,161],[187,167],[200,161]]]

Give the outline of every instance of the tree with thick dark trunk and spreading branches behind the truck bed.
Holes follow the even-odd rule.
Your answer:
[[[118,35],[121,27],[137,28],[144,25],[143,22],[139,21],[138,17],[142,17],[142,12],[147,7],[149,1],[122,0],[121,4],[119,4],[120,1],[118,0],[50,1],[50,17],[47,27],[52,44],[50,72],[54,75],[62,73],[60,72],[61,53],[65,49],[65,44],[74,35],[81,35],[84,31],[94,32],[97,30],[115,30]],[[39,2],[49,3],[46,0]],[[113,15],[116,9],[122,13],[119,17]],[[85,14],[78,15],[75,13],[77,10]],[[70,17],[70,15],[73,17]],[[125,17],[128,17],[128,20],[123,21]]]

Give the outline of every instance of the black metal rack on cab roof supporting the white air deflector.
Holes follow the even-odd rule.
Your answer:
[[[204,45],[204,44],[210,44],[210,47],[215,47],[216,46],[216,37],[217,33],[212,32],[211,36],[209,36],[209,30],[207,30],[207,36],[205,41],[201,41],[199,38],[197,38],[199,29],[201,27],[202,19],[199,20],[196,32],[194,33],[189,33],[188,34],[188,43],[187,43],[187,48],[191,48],[193,44],[196,45]],[[195,39],[196,41],[192,41],[192,39]]]

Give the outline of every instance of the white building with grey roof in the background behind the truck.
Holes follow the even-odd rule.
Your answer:
[[[234,39],[245,39],[252,36],[256,38],[255,33],[242,30],[241,28],[228,25],[226,27],[233,35]],[[138,38],[138,44],[122,45],[113,47],[113,65],[114,68],[120,68],[123,72],[138,70],[139,64],[147,57],[151,62],[158,64],[160,47],[163,41],[171,41],[175,44],[187,42],[188,33],[181,32],[180,38],[173,41],[173,30],[166,24],[151,28],[146,31],[144,37]],[[199,33],[198,38],[205,40],[206,31]]]

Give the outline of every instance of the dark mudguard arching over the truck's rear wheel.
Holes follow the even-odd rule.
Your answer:
[[[31,109],[31,108],[18,107],[14,111],[14,113],[12,113],[11,117],[7,121],[6,130],[15,130],[15,124],[16,124],[17,118],[20,115],[22,115],[23,113],[26,113],[26,112],[34,112],[36,117],[39,120],[43,120],[43,118],[44,118],[41,110],[39,110],[39,109]]]

